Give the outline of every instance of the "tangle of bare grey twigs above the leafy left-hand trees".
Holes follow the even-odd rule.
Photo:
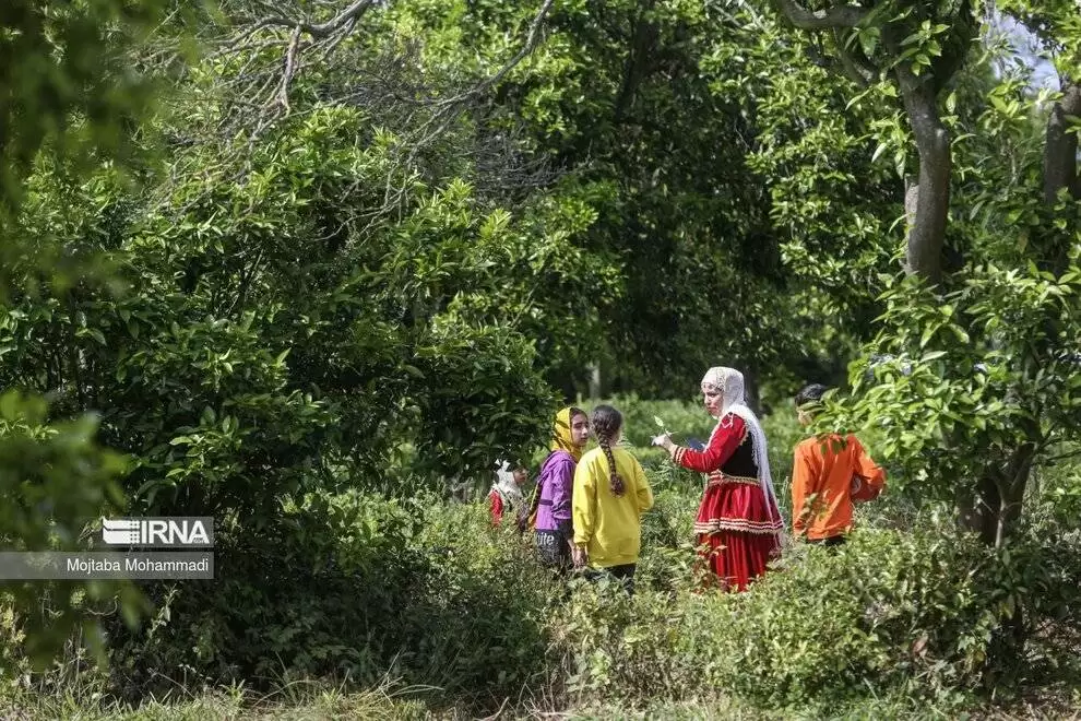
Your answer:
[[[349,8],[317,24],[313,14],[332,14],[328,9],[333,3],[313,7],[282,0],[270,10],[272,15],[260,17],[270,3],[245,0],[246,13],[238,24],[217,37],[205,38],[217,50],[214,57],[227,61],[214,87],[221,105],[217,114],[209,117],[211,125],[187,127],[185,133],[205,132],[210,142],[239,151],[223,153],[223,163],[211,170],[213,174],[245,182],[252,169],[254,143],[275,123],[286,115],[297,118],[336,105],[363,108],[373,119],[372,139],[376,133],[389,139],[384,182],[372,188],[369,179],[346,193],[355,202],[348,217],[342,218],[351,228],[349,243],[363,241],[395,215],[408,212],[418,184],[428,187],[444,173],[449,143],[467,145],[464,152],[471,164],[462,172],[478,198],[512,199],[553,180],[548,163],[531,155],[528,143],[516,128],[508,128],[507,118],[489,103],[488,95],[543,43],[545,21],[555,0],[537,0],[538,9],[526,15],[521,47],[497,64],[491,75],[479,78],[453,70],[431,72],[424,63],[419,40],[404,45],[379,38],[372,44],[348,42],[369,25],[371,14],[361,17],[363,10],[378,10],[383,3],[338,2],[348,2]],[[301,86],[304,102],[298,90]],[[185,142],[180,138],[177,141]],[[247,152],[240,146],[245,142]],[[204,198],[200,193],[188,204],[193,206]],[[162,202],[166,201],[163,197]]]

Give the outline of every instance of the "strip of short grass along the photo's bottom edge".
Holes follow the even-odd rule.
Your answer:
[[[1076,676],[1073,676],[1076,678]],[[9,686],[9,689],[13,688]],[[0,697],[0,718],[5,721],[68,719],[71,721],[321,721],[323,719],[371,719],[373,721],[459,721],[477,719],[472,707],[429,706],[429,687],[402,686],[392,679],[367,689],[322,679],[280,682],[270,693],[259,693],[243,684],[176,693],[147,698],[138,706],[102,704],[92,684],[74,682],[61,692],[39,693],[23,688]],[[628,707],[610,701],[580,701],[572,708],[558,708],[535,689],[523,689],[516,699],[506,699],[494,713],[496,719],[544,721],[653,720],[698,721],[883,721],[924,719],[971,719],[973,721],[1077,720],[1081,721],[1081,687],[1070,684],[1044,686],[1038,693],[1007,705],[984,704],[959,707],[943,701],[916,701],[900,693],[869,697],[843,706],[828,701],[815,707],[764,709],[727,697],[715,689],[701,697],[680,701],[645,701]]]

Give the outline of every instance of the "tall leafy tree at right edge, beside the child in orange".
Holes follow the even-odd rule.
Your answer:
[[[972,43],[971,3],[775,7],[825,36],[836,67],[866,88],[853,88],[853,105],[876,98],[889,108],[889,97],[900,96],[918,157],[917,188],[906,198],[915,283],[883,297],[888,311],[874,347],[894,361],[871,371],[877,385],[862,380],[867,362],[856,369],[864,394],[857,407],[887,424],[888,447],[907,456],[915,477],[955,494],[962,520],[986,543],[1001,544],[1020,518],[1032,469],[1079,428],[1071,410],[1076,135],[1065,131],[1076,103],[1078,11],[1069,3],[1048,15],[1024,3],[1015,10],[1054,38],[1062,78],[1040,132],[1033,117],[1041,98],[1022,76],[995,80],[994,48]],[[907,134],[891,126],[888,118],[879,126],[881,147],[903,153]],[[996,409],[994,419],[987,409]]]

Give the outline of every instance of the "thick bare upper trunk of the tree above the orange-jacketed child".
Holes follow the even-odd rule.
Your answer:
[[[917,78],[904,67],[896,71],[896,78],[919,152],[915,218],[908,229],[905,264],[908,273],[937,285],[942,277],[942,244],[950,210],[950,131],[938,115],[932,79]]]

